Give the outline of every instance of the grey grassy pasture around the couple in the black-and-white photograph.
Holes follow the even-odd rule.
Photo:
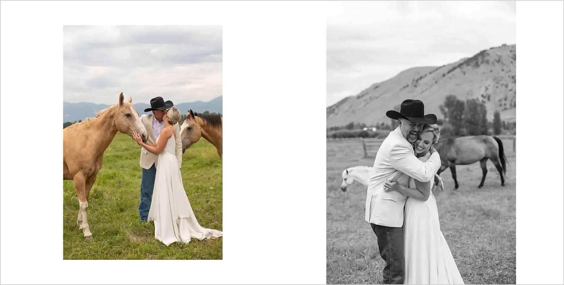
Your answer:
[[[466,284],[515,284],[515,153],[513,137],[501,137],[509,164],[505,186],[488,161],[484,186],[479,163],[457,166],[459,189],[450,170],[441,173],[445,191],[437,195],[440,228]],[[376,150],[381,139],[367,139]],[[346,167],[374,164],[359,139],[327,140],[327,283],[381,284],[384,260],[376,235],[364,221],[365,186],[342,192]]]

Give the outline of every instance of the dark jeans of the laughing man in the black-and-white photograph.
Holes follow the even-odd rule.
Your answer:
[[[378,238],[380,256],[386,261],[382,281],[384,284],[403,284],[403,227],[370,226]]]

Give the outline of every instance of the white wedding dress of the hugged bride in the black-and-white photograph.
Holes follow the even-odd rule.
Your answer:
[[[429,181],[431,187],[433,182],[434,179]],[[415,188],[412,178],[409,187]],[[407,198],[404,211],[404,284],[464,284],[440,231],[433,192],[427,201]]]

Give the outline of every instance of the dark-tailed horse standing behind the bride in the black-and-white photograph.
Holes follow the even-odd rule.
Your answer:
[[[443,172],[447,167],[451,168],[452,179],[455,181],[455,189],[459,187],[456,181],[456,165],[472,164],[480,162],[482,167],[482,181],[478,188],[484,186],[486,179],[486,162],[490,159],[495,165],[501,177],[501,186],[505,185],[505,163],[507,158],[503,152],[503,143],[495,136],[462,136],[451,139],[440,140],[435,144],[435,149],[439,152],[441,166],[439,171]]]

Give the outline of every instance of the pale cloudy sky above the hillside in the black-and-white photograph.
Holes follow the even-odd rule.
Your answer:
[[[327,106],[408,68],[515,43],[514,1],[328,4]]]

